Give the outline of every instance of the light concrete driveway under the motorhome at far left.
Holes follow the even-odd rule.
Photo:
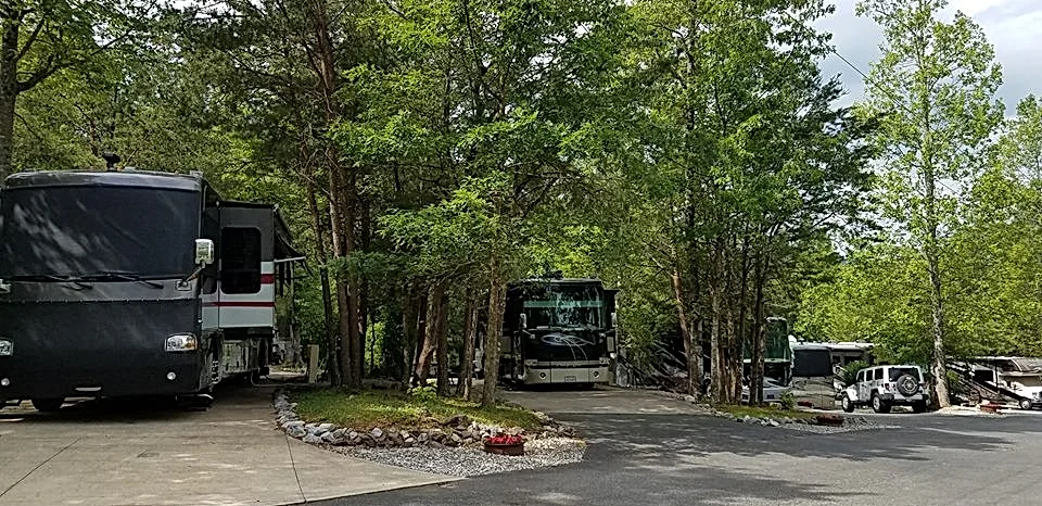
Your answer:
[[[205,413],[86,402],[0,410],[0,506],[296,504],[453,478],[344,457],[275,430],[270,388]]]

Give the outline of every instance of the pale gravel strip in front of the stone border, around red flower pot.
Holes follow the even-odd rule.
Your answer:
[[[583,459],[586,444],[580,440],[548,438],[524,444],[524,456],[493,455],[478,448],[416,446],[411,448],[333,447],[350,457],[405,467],[417,471],[458,477],[555,467]]]

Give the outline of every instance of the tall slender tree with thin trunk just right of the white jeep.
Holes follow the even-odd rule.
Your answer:
[[[876,141],[886,153],[886,212],[926,261],[930,371],[941,406],[950,404],[941,257],[961,190],[951,187],[968,184],[979,172],[989,136],[1002,119],[994,99],[1002,83],[994,49],[965,14],[938,20],[946,5],[946,0],[857,4],[857,13],[884,31],[882,58],[872,65],[864,105],[881,117]]]

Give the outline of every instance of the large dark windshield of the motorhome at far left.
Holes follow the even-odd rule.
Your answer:
[[[0,279],[191,271],[200,195],[131,187],[54,186],[0,193]]]

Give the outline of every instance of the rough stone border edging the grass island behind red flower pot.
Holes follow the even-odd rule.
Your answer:
[[[483,425],[466,415],[439,420],[441,427],[429,429],[399,429],[392,427],[347,428],[334,423],[306,422],[296,414],[296,403],[285,391],[275,397],[276,421],[291,438],[305,443],[331,446],[364,447],[480,447],[485,439],[499,434],[523,435],[525,441],[551,438],[576,439],[575,431],[558,423],[546,414],[536,412],[543,426],[537,432],[525,432],[520,427],[503,428]]]

